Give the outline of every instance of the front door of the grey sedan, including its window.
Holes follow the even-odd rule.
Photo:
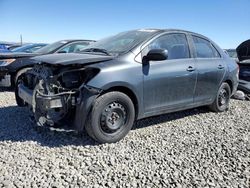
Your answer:
[[[143,65],[145,113],[177,109],[193,104],[196,84],[195,60],[183,33],[166,34],[146,47],[168,50],[168,59]],[[143,54],[146,54],[143,52]]]

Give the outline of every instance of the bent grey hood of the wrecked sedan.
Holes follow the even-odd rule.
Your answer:
[[[114,59],[113,56],[96,55],[96,54],[81,54],[81,53],[68,53],[68,54],[50,54],[42,55],[31,58],[37,63],[46,63],[52,65],[73,65],[73,64],[92,64],[102,61],[109,61]]]

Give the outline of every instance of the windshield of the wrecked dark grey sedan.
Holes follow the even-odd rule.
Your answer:
[[[119,55],[133,49],[138,44],[153,36],[156,32],[157,30],[136,30],[119,33],[112,37],[99,40],[87,46],[81,52],[88,52],[88,49],[102,49],[102,51],[105,53]],[[102,51],[96,52],[100,53]]]

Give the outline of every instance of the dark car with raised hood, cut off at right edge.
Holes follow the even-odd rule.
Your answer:
[[[250,40],[241,43],[237,49],[239,73],[238,89],[244,91],[247,95],[250,94]]]

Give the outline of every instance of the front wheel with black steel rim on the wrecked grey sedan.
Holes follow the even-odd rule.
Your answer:
[[[121,92],[109,92],[94,102],[85,129],[99,143],[114,143],[127,135],[134,124],[131,99]]]

